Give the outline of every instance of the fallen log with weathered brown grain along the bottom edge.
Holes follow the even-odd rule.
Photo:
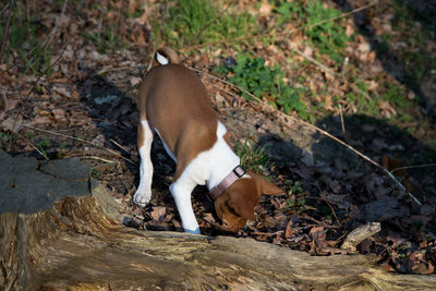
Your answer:
[[[252,239],[138,231],[104,186],[48,210],[0,216],[5,290],[435,290],[373,256],[310,256]]]

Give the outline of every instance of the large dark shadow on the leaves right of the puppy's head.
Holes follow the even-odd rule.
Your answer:
[[[339,117],[326,118],[316,125],[344,140],[388,170],[436,163],[433,148],[384,120],[360,114],[344,117],[344,135]],[[263,134],[258,136],[258,146],[267,148],[280,174],[289,172],[291,180],[301,181],[306,195],[330,201],[339,220],[347,220],[346,228],[352,230],[363,222],[382,221],[386,229],[400,231],[403,235],[416,235],[428,228],[435,231],[436,167],[393,171],[423,204],[420,207],[379,168],[347,147],[315,133],[306,136],[313,144],[304,148],[296,145],[300,134],[289,131],[284,136]],[[293,136],[296,136],[295,142]],[[319,207],[317,203],[313,206]],[[320,215],[320,211],[315,209],[313,213]]]

